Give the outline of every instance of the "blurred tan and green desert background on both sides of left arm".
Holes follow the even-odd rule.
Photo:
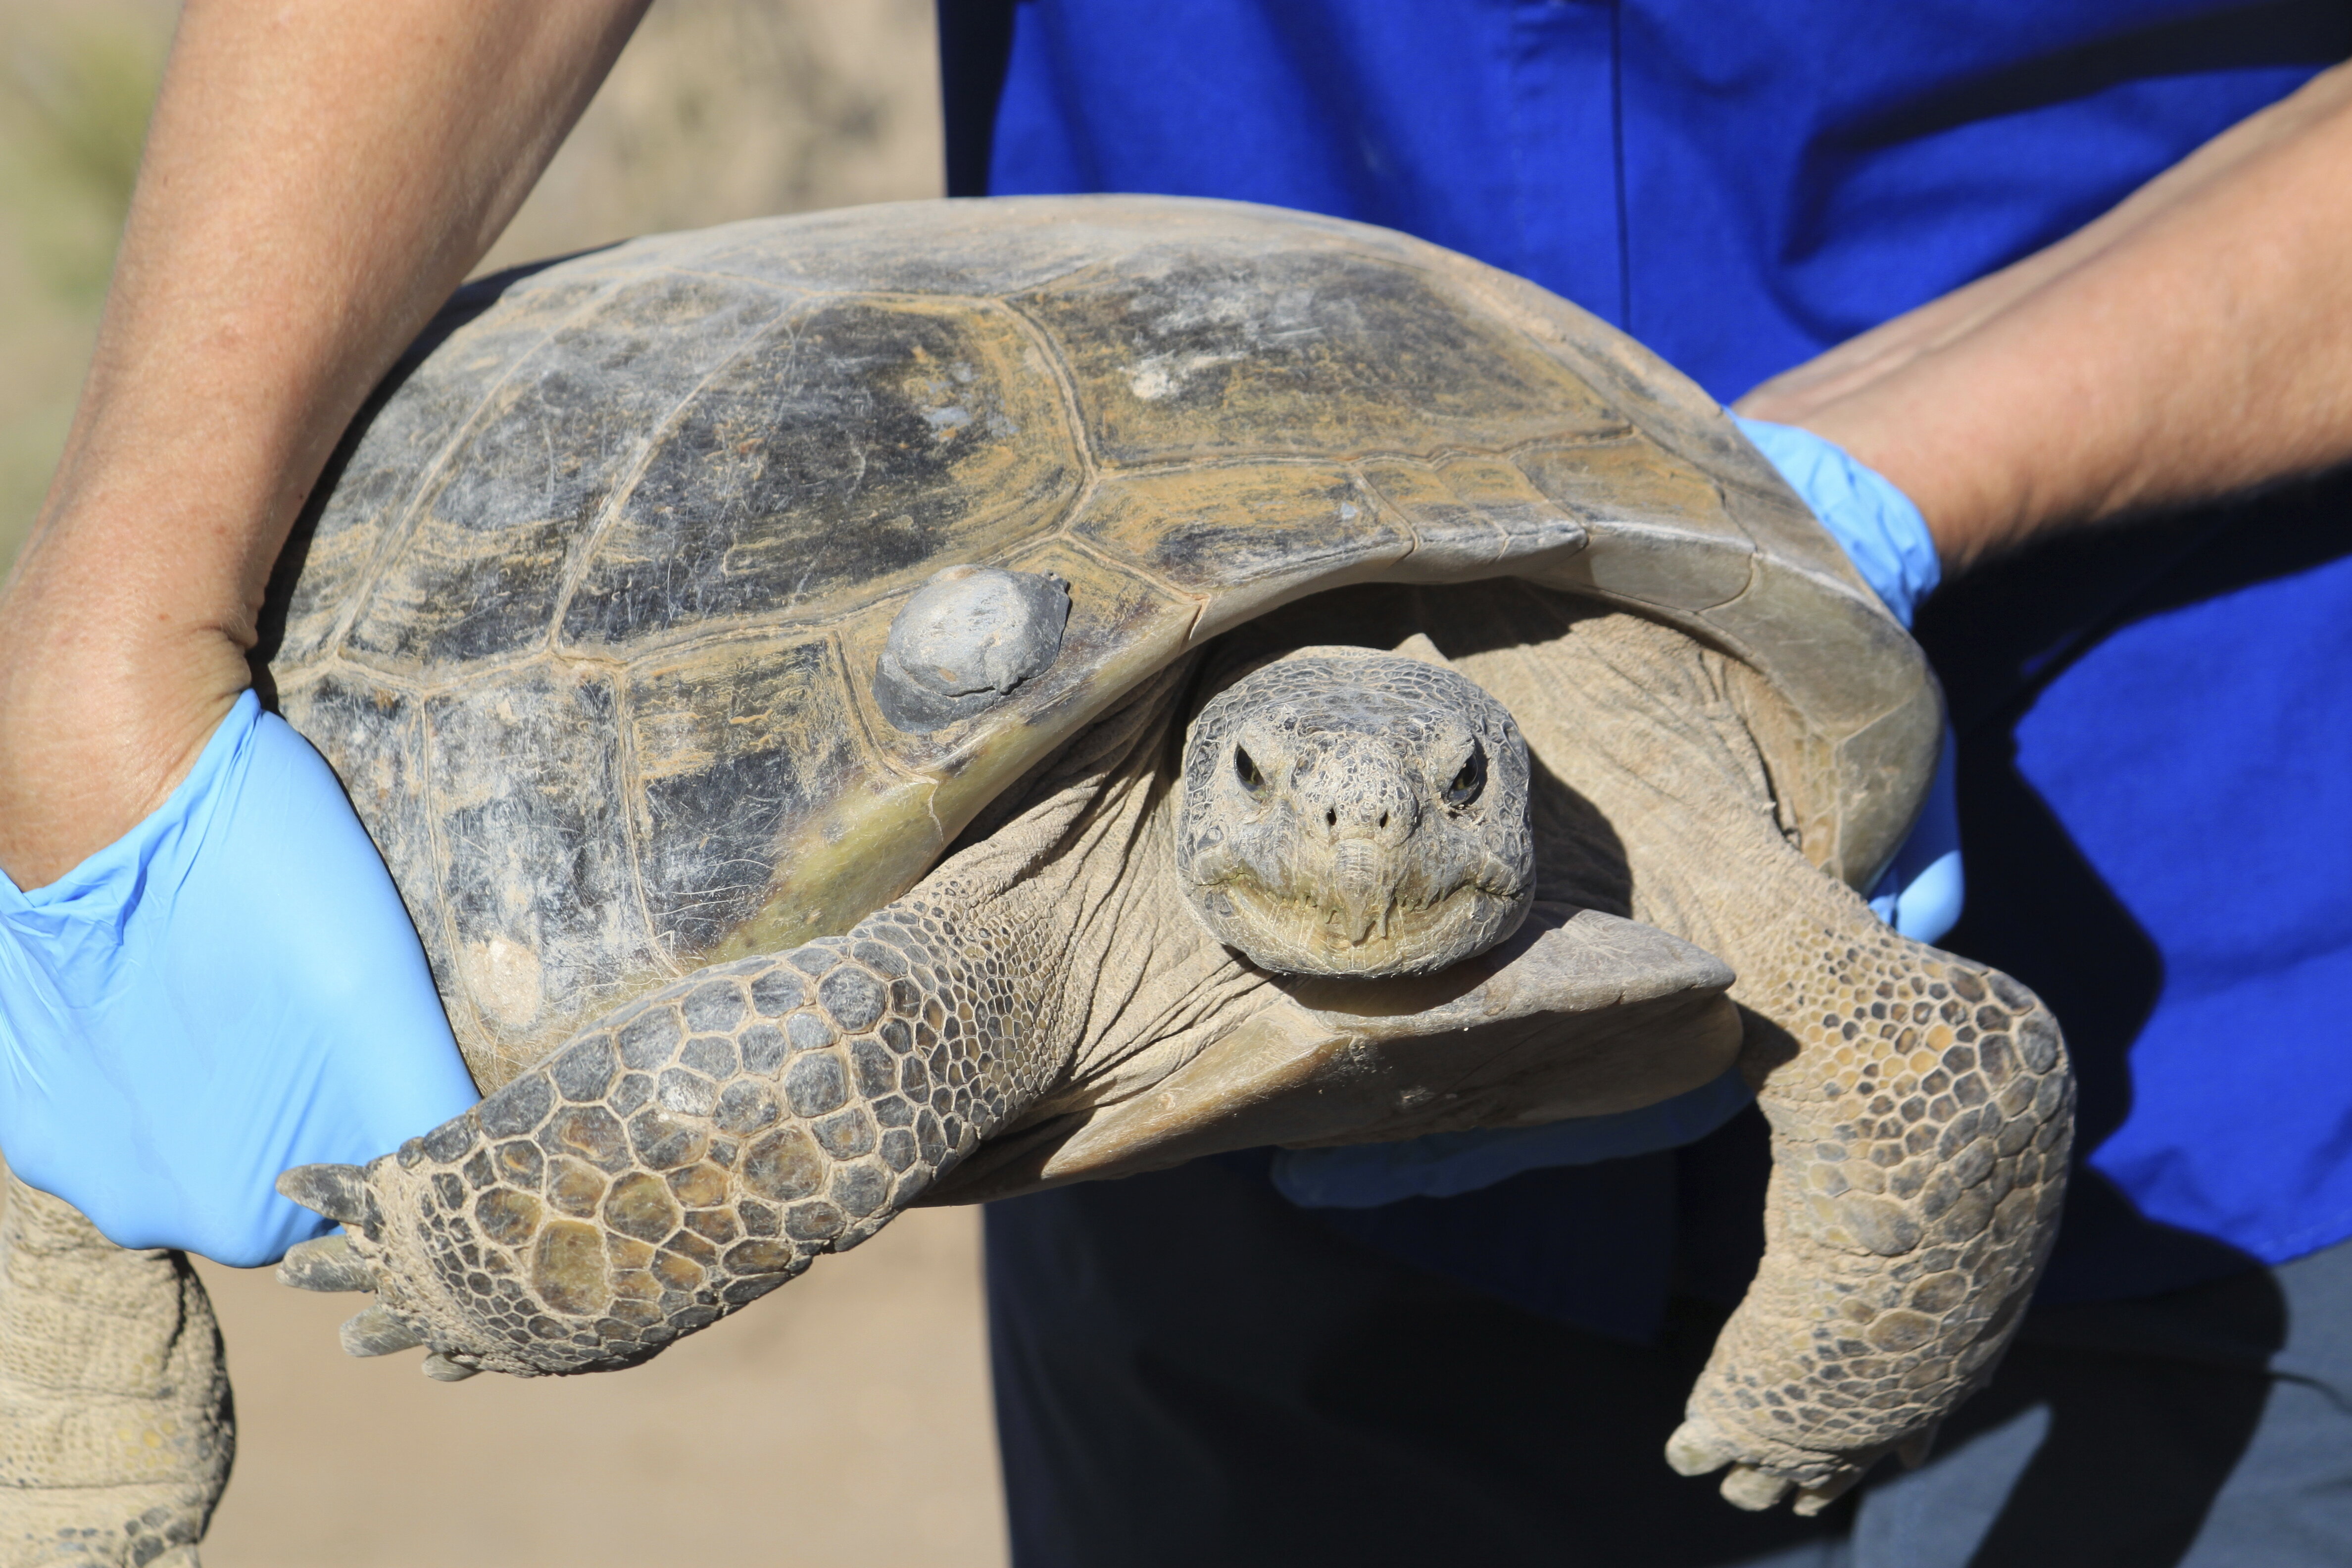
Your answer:
[[[176,5],[0,0],[0,571],[56,465]],[[938,195],[931,0],[656,0],[485,270]]]

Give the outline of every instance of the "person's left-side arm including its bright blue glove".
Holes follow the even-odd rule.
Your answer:
[[[75,430],[0,599],[0,1147],[125,1246],[266,1262],[318,1229],[280,1168],[473,1100],[334,773],[240,693],[336,437],[640,9],[183,14]]]

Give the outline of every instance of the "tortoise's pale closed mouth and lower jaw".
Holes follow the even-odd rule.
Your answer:
[[[1188,886],[1192,912],[1216,940],[1242,950],[1258,969],[1289,976],[1350,976],[1388,980],[1428,976],[1486,952],[1526,919],[1531,889],[1465,882],[1430,900],[1395,893],[1324,896],[1265,889],[1240,875]]]

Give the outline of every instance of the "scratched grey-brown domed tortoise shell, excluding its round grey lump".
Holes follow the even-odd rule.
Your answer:
[[[287,557],[270,675],[485,1086],[847,931],[1138,679],[1324,588],[1524,576],[1745,658],[1788,830],[1853,884],[1933,759],[1917,649],[1712,400],[1388,230],[863,207],[477,287],[426,346]],[[1061,654],[903,733],[875,658],[964,562],[1063,576]]]

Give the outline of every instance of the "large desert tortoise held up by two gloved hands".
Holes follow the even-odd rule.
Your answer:
[[[1668,1458],[1811,1512],[1999,1359],[2049,1009],[1860,891],[1940,696],[1698,388],[1439,247],[913,202],[461,294],[273,590],[489,1095],[282,1190],[426,1371],[619,1368],[976,1201],[1738,1067]]]

